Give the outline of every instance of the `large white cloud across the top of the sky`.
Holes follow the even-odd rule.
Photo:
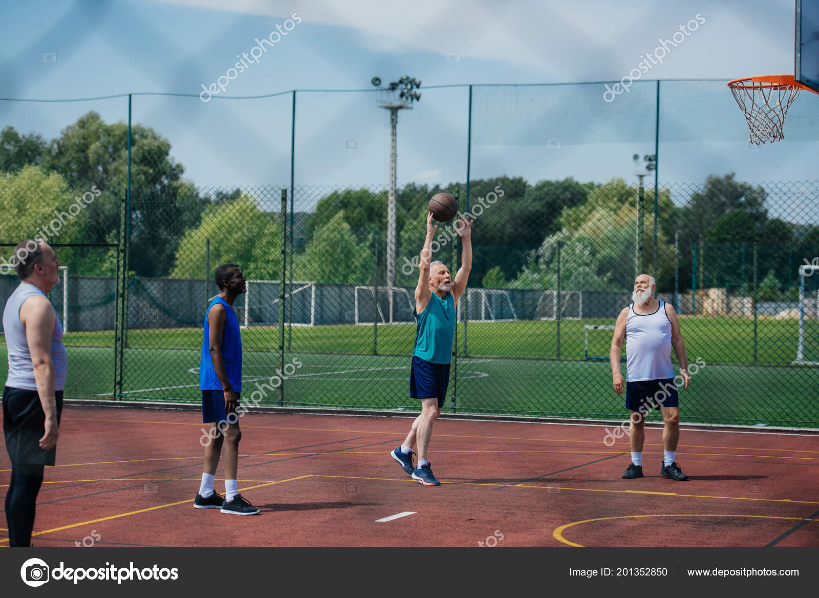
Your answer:
[[[734,78],[793,69],[794,11],[790,2],[723,0],[713,9],[689,3],[514,2],[491,0],[155,0],[197,11],[285,19],[297,12],[305,25],[351,29],[374,52],[457,52],[455,68],[469,72],[468,59],[523,67],[531,81],[620,79],[640,54],[670,37],[703,11],[707,23],[684,52],[655,69],[651,78]],[[708,12],[710,10],[710,12]],[[266,25],[265,25],[266,26]],[[753,41],[751,41],[753,40]],[[682,49],[682,48],[681,48]],[[447,72],[447,71],[445,71]],[[440,71],[439,71],[440,74]],[[451,75],[451,73],[450,73]],[[491,83],[502,79],[503,74]]]

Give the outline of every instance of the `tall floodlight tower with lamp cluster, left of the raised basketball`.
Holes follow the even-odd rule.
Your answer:
[[[378,81],[378,84],[376,83]],[[381,84],[379,77],[370,81],[376,87]],[[411,110],[412,102],[419,102],[421,94],[415,91],[421,82],[414,77],[404,75],[397,81],[381,88],[381,99],[378,107],[390,111],[390,191],[387,196],[387,292],[390,299],[389,321],[393,322],[393,290],[396,286],[396,136],[398,111]]]

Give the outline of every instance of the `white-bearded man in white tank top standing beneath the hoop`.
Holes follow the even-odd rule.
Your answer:
[[[665,301],[654,297],[657,283],[647,274],[634,281],[630,306],[623,308],[614,325],[609,358],[614,378],[614,391],[622,394],[620,352],[626,340],[626,408],[631,428],[631,464],[622,474],[625,479],[643,477],[643,442],[645,413],[654,407],[663,412],[663,467],[660,475],[672,480],[687,480],[688,476],[676,464],[676,445],[680,439],[680,407],[674,383],[671,350],[680,364],[683,387],[688,388],[686,343],[682,340],[676,311]]]

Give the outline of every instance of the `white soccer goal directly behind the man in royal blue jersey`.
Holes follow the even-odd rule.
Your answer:
[[[244,324],[249,326],[278,326],[278,280],[248,280],[244,295]],[[293,326],[315,325],[315,281],[293,280],[285,284],[285,318],[292,317],[286,324]],[[292,289],[292,290],[291,290]],[[287,301],[290,305],[287,305]],[[292,310],[292,312],[291,312]],[[291,316],[292,313],[292,316]]]

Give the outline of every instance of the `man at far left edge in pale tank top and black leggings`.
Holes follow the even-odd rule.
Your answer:
[[[20,242],[12,260],[20,286],[2,314],[8,350],[2,427],[11,460],[5,508],[9,546],[31,546],[43,468],[57,455],[67,361],[60,318],[46,296],[60,282],[60,260],[42,239]]]

